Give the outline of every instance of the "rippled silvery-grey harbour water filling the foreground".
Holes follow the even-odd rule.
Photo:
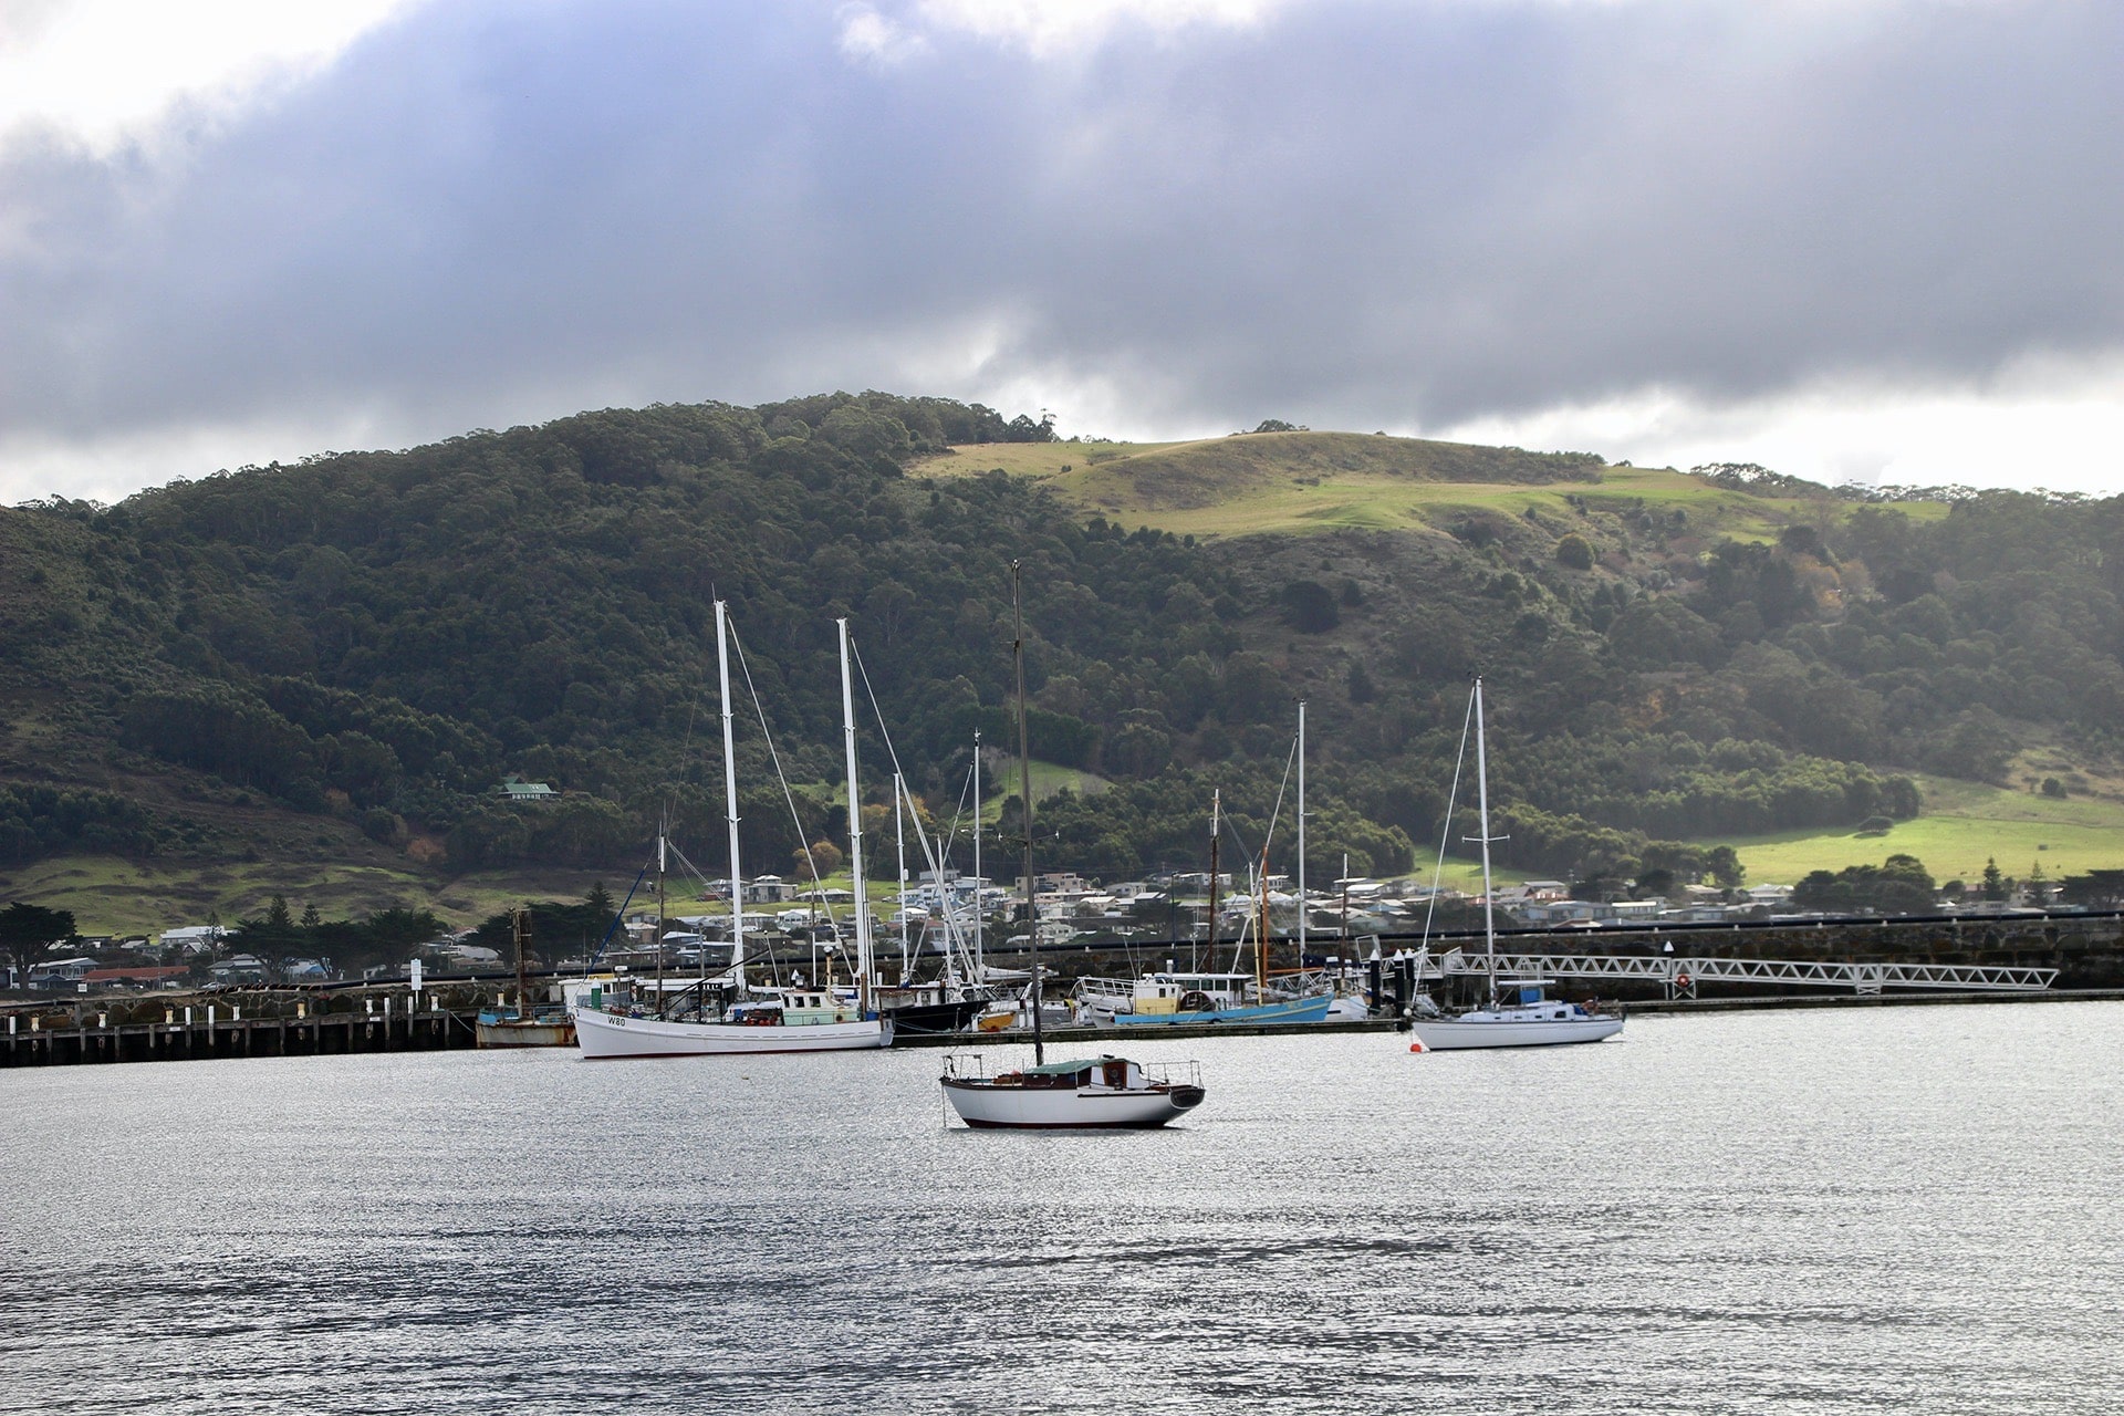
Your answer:
[[[1128,1044],[0,1072],[0,1410],[2124,1410],[2124,1004]]]

